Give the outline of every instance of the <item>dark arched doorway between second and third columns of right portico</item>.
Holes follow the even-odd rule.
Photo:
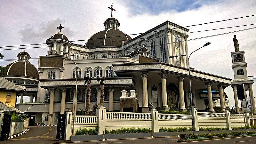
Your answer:
[[[171,109],[179,109],[179,89],[174,84],[169,84],[167,87],[167,102]]]

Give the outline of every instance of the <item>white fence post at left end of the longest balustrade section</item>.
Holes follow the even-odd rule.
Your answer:
[[[100,107],[97,108],[96,116],[98,116],[97,118],[98,128],[99,128],[98,134],[103,134],[103,132],[105,132],[105,129],[106,129],[106,108],[103,107],[103,105],[100,104]]]

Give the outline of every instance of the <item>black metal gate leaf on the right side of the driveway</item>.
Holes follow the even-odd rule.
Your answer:
[[[58,115],[58,123],[57,123],[57,135],[56,139],[64,140],[64,134],[65,134],[65,114],[59,114]]]

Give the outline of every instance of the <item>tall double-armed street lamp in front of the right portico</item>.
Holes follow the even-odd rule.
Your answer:
[[[211,43],[208,42],[208,43],[204,44],[204,46],[200,47],[199,49],[201,49],[201,48],[203,48],[203,47],[205,47],[205,46],[207,46],[207,45],[209,45],[209,44],[211,44]],[[197,50],[199,50],[199,49],[197,49]],[[194,52],[196,52],[197,50],[195,50]],[[192,53],[194,53],[194,52],[192,52]],[[192,54],[192,53],[191,53],[191,54]],[[195,130],[194,130],[194,118],[193,118],[193,116],[194,116],[194,111],[193,111],[193,108],[192,108],[193,106],[192,106],[190,65],[189,65],[189,58],[190,58],[191,54],[190,54],[189,56],[187,56],[187,55],[180,55],[180,56],[186,56],[186,57],[188,58],[189,98],[190,98],[190,109],[191,109],[191,116],[192,116],[192,131],[193,131],[193,135],[195,135]],[[170,56],[170,58],[175,58],[175,57],[180,57],[180,56]]]

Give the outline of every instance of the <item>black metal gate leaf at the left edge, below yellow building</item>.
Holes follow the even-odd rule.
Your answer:
[[[12,115],[4,115],[0,140],[7,140],[10,133]]]

